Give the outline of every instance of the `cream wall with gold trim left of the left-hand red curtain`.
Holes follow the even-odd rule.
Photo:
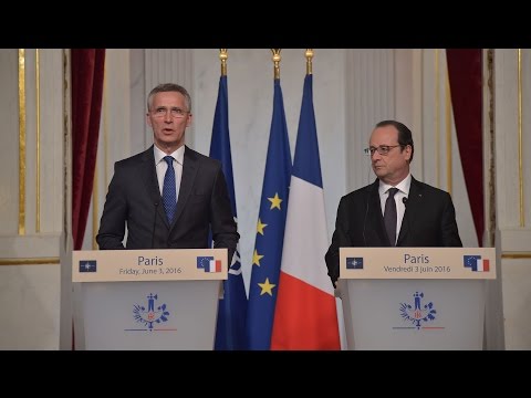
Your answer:
[[[63,51],[0,50],[0,349],[58,349]]]

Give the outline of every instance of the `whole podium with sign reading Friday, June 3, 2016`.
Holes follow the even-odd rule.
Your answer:
[[[227,249],[74,251],[75,349],[214,349]]]

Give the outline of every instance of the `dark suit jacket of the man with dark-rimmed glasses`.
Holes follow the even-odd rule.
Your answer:
[[[378,195],[379,180],[341,198],[332,244],[325,255],[329,276],[340,275],[340,248],[391,247]],[[397,247],[462,247],[448,192],[412,177]]]

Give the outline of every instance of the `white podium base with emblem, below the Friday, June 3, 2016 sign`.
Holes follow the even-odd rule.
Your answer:
[[[221,282],[76,283],[75,349],[214,349]]]

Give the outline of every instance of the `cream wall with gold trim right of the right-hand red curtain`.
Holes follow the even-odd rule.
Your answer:
[[[496,50],[493,72],[506,348],[531,349],[531,50]]]

